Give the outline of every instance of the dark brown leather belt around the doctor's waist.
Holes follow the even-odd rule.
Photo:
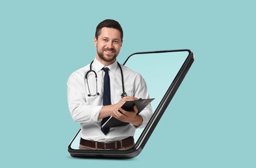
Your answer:
[[[96,149],[120,149],[122,147],[129,147],[133,143],[134,143],[133,136],[129,136],[128,138],[125,138],[120,141],[107,142],[107,143],[84,140],[83,138],[80,139],[81,145],[84,145],[86,147],[93,147]]]

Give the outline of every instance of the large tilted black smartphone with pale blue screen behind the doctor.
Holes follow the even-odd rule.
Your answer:
[[[181,85],[194,62],[191,50],[158,50],[131,54],[123,65],[139,72],[147,83],[153,115],[144,129],[136,129],[135,145],[125,151],[118,150],[80,150],[80,129],[75,133],[68,152],[73,157],[86,158],[134,158],[142,152],[162,114],[164,114],[175,92]],[[163,135],[164,136],[164,135]]]

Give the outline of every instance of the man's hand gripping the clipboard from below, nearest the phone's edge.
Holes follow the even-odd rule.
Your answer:
[[[126,122],[126,123],[132,123],[136,127],[138,127],[143,119],[142,116],[137,115],[138,109],[136,105],[133,106],[133,111],[126,111],[123,110],[121,107],[118,109],[114,109],[112,116],[120,121]]]

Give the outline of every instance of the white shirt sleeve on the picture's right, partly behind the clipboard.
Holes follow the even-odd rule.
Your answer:
[[[142,99],[149,98],[149,92],[147,91],[147,84],[144,78],[142,78],[140,74],[137,74],[136,79],[134,81],[134,97],[142,98]],[[142,116],[143,121],[136,128],[142,129],[146,127],[148,121],[153,115],[151,104],[149,103],[149,105],[147,105],[147,107],[144,110],[142,110],[139,115]]]

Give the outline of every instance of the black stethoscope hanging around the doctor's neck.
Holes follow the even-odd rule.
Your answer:
[[[94,61],[92,61],[92,63],[93,63]],[[95,70],[92,70],[92,63],[90,63],[90,70],[88,71],[88,72],[86,72],[86,74],[85,74],[85,76],[84,76],[84,78],[86,79],[86,83],[87,83],[87,87],[88,87],[88,91],[89,91],[89,94],[88,94],[88,96],[90,97],[90,96],[99,96],[99,92],[97,91],[97,74],[96,74],[96,72],[95,72]],[[118,63],[118,62],[117,62]],[[122,67],[121,67],[121,65],[120,65],[120,63],[118,63],[118,67],[120,67],[120,71],[121,71],[121,76],[122,76],[122,88],[123,88],[123,93],[121,94],[121,98],[123,98],[123,97],[125,97],[125,96],[127,96],[127,94],[126,94],[126,92],[125,92],[125,87],[124,87],[124,82],[123,82],[123,70],[122,70]],[[96,79],[96,94],[91,94],[91,92],[90,92],[90,88],[89,88],[89,83],[88,83],[88,74],[90,73],[90,72],[94,72],[94,74],[95,74],[95,79]],[[84,84],[85,85],[85,84]]]

